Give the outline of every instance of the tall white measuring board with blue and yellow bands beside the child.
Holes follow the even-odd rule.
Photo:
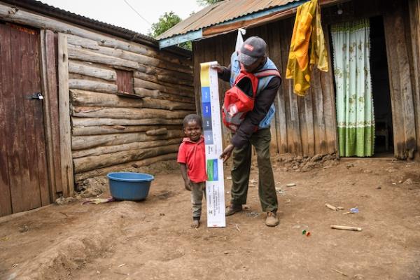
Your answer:
[[[223,153],[221,104],[218,96],[218,76],[211,65],[217,62],[200,64],[202,90],[202,117],[204,144],[206,146],[207,181],[207,227],[226,226],[225,218],[225,180],[223,175]]]

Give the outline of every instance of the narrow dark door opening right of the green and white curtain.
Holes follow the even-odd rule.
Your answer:
[[[375,123],[374,155],[393,155],[391,94],[381,16],[370,18],[370,74]]]

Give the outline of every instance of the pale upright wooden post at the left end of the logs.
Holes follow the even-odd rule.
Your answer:
[[[58,94],[59,94],[59,138],[63,195],[74,190],[73,159],[71,157],[71,124],[69,102],[69,56],[66,34],[58,34]]]

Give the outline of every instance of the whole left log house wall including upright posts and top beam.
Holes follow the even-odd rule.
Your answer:
[[[1,2],[0,20],[41,30],[55,198],[92,176],[176,159],[183,117],[195,112],[188,57]],[[131,94],[118,92],[118,70],[132,73]]]

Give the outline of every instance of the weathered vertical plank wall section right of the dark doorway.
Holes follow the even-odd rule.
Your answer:
[[[384,13],[386,53],[393,110],[393,139],[396,158],[414,158],[414,73],[407,1],[390,3]],[[417,73],[417,76],[419,73]]]

